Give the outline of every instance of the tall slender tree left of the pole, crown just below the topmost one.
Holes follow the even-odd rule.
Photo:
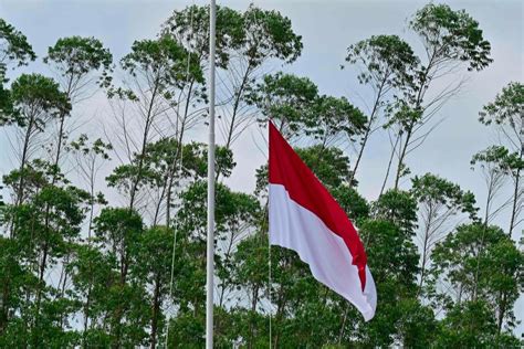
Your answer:
[[[134,209],[138,194],[138,187],[143,180],[144,158],[148,142],[154,139],[158,119],[171,107],[172,97],[177,89],[182,88],[189,76],[186,74],[186,63],[189,56],[189,72],[193,78],[201,81],[202,72],[196,56],[188,53],[172,38],[163,35],[157,40],[136,41],[132,52],[120,61],[120,66],[127,73],[129,81],[124,81],[125,87],[111,87],[109,97],[118,97],[129,102],[138,115],[140,135],[138,139],[130,139],[128,117],[120,110],[119,126],[124,135],[118,142],[124,147],[130,161],[137,158],[136,173],[129,187],[129,209]],[[174,174],[172,171],[169,174]],[[168,200],[170,200],[168,195]]]

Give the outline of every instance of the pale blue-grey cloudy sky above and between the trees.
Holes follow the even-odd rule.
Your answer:
[[[366,109],[369,92],[358,85],[355,72],[340,71],[346,49],[352,43],[374,34],[398,34],[408,41],[417,53],[421,53],[420,42],[409,31],[407,21],[427,1],[252,1],[264,9],[274,9],[292,20],[293,29],[302,35],[304,50],[291,65],[275,66],[275,70],[310,77],[318,85],[322,94],[346,96],[352,103]],[[522,1],[443,1],[453,9],[465,9],[484,31],[492,44],[494,62],[484,71],[468,75],[463,91],[440,110],[442,123],[427,141],[410,154],[407,162],[415,174],[438,173],[463,189],[476,194],[478,202],[485,200],[485,184],[481,176],[470,169],[473,154],[493,144],[490,128],[478,121],[482,106],[493,101],[495,95],[512,81],[523,82],[524,62],[524,6]],[[22,31],[42,57],[46,49],[62,36],[84,35],[101,39],[111,49],[115,61],[125,55],[133,41],[154,38],[159,25],[174,9],[188,4],[206,4],[207,1],[96,1],[96,0],[2,0],[0,17]],[[219,1],[218,4],[244,10],[248,1]],[[49,73],[40,62],[31,64],[28,71]],[[448,82],[459,76],[451,76]],[[80,112],[86,117],[96,115],[104,120],[107,105],[101,98],[93,98]],[[93,127],[86,124],[84,127]],[[195,138],[206,140],[205,133]],[[0,147],[7,149],[4,135],[0,134]],[[218,142],[222,141],[218,135]],[[233,145],[238,163],[227,183],[235,190],[252,192],[254,170],[265,162],[261,150],[263,139],[260,130],[250,128]],[[358,190],[368,200],[375,200],[380,191],[389,156],[387,134],[373,135],[364,155]],[[11,161],[11,162],[10,162]],[[0,152],[0,171],[12,167],[13,159],[7,151]],[[401,183],[404,188],[409,181]],[[502,226],[509,225],[509,214],[496,220]],[[518,226],[515,239],[522,236]],[[524,318],[524,297],[521,297],[515,314]],[[521,325],[517,334],[522,334]]]

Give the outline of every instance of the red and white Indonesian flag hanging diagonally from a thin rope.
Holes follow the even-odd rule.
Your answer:
[[[377,292],[355,226],[275,126],[269,124],[270,243],[296,251],[317,281],[370,320]]]

